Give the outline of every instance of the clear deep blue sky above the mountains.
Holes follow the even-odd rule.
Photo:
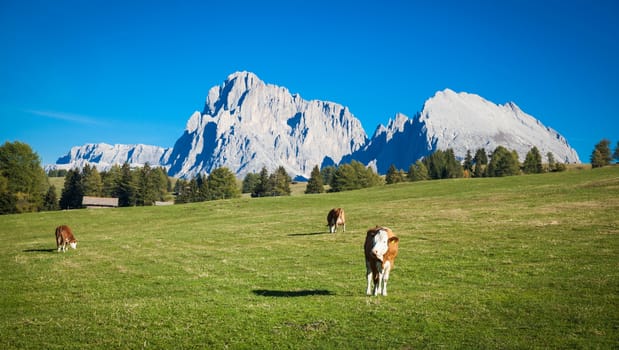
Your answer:
[[[0,141],[172,147],[210,87],[254,72],[371,136],[438,90],[515,102],[582,162],[619,140],[619,1],[0,0]]]

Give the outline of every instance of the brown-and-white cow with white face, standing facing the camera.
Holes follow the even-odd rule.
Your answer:
[[[374,295],[387,295],[389,271],[393,269],[395,257],[398,255],[399,242],[400,239],[387,227],[376,226],[368,230],[364,245],[367,295],[372,295],[372,283]]]

